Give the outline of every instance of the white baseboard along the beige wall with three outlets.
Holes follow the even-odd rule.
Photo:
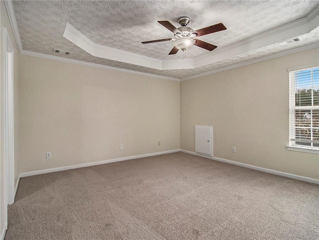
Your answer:
[[[126,161],[126,160],[131,160],[131,159],[142,158],[142,157],[151,157],[151,156],[157,156],[157,155],[173,153],[173,152],[179,152],[179,149],[170,150],[170,151],[163,151],[163,152],[155,152],[155,153],[149,153],[149,154],[143,154],[143,155],[137,155],[137,156],[131,156],[131,157],[122,157],[122,158],[104,160],[104,161],[99,161],[99,162],[89,162],[89,163],[77,164],[77,165],[72,165],[72,166],[49,168],[49,169],[44,169],[44,170],[39,170],[39,171],[25,172],[25,173],[21,173],[19,175],[19,179],[21,177],[29,177],[29,176],[33,176],[33,175],[39,175],[39,174],[50,173],[50,172],[58,172],[58,171],[70,170],[70,169],[81,168],[81,167],[90,167],[90,166],[101,165],[101,164],[105,164],[105,163],[120,162],[120,161]],[[16,189],[17,189],[17,186],[16,186]]]

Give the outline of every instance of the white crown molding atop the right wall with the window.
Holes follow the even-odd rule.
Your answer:
[[[277,57],[283,57],[283,56],[286,56],[286,55],[289,55],[289,54],[293,54],[293,53],[297,53],[297,52],[307,51],[307,50],[314,49],[314,48],[319,48],[319,42],[313,43],[313,44],[309,44],[309,45],[306,45],[306,46],[302,46],[302,47],[298,47],[298,48],[294,48],[294,49],[290,49],[290,50],[286,50],[286,51],[279,52],[279,53],[274,53],[274,54],[271,54],[269,56],[260,57],[260,58],[254,59],[254,60],[248,60],[248,61],[245,61],[245,62],[242,62],[242,63],[233,64],[231,66],[219,68],[219,69],[208,71],[208,72],[205,72],[205,73],[196,74],[196,75],[193,75],[193,76],[190,76],[190,77],[182,78],[182,79],[180,79],[180,82],[186,81],[186,80],[190,80],[190,79],[199,78],[199,77],[203,77],[203,76],[207,76],[207,75],[218,73],[218,72],[223,72],[223,71],[230,70],[230,69],[233,69],[233,68],[243,67],[243,66],[246,66],[246,65],[250,65],[250,64],[254,64],[254,63],[270,60],[270,59],[277,58]]]

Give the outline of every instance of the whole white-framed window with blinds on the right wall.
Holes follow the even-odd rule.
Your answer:
[[[319,153],[319,67],[290,71],[288,150]]]

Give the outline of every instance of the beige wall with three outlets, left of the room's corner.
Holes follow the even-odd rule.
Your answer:
[[[21,173],[179,149],[179,82],[20,60]]]

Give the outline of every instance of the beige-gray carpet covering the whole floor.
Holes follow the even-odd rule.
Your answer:
[[[318,240],[319,186],[185,153],[21,178],[5,240]]]

